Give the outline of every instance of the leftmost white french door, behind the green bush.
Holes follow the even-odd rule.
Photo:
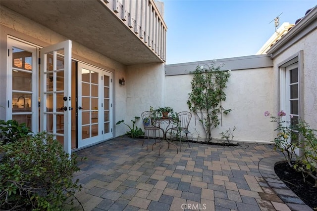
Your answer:
[[[7,119],[25,123],[38,131],[37,56],[39,48],[8,39],[8,113]]]

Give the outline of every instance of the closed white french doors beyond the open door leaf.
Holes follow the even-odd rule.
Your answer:
[[[78,63],[77,77],[77,136],[81,148],[112,137],[111,73]]]

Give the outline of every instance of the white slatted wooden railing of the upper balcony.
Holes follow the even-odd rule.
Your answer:
[[[166,59],[166,25],[154,0],[101,0],[162,60]]]

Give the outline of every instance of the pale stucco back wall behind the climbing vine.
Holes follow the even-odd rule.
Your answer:
[[[192,70],[194,71],[194,70]],[[175,111],[189,111],[186,104],[191,92],[192,75],[176,75],[166,77],[166,105]],[[251,141],[269,143],[276,135],[275,125],[264,117],[265,111],[273,111],[277,106],[276,79],[273,69],[257,68],[231,71],[231,77],[225,90],[227,99],[222,104],[225,109],[232,109],[228,115],[222,116],[222,126],[212,130],[212,137],[219,139],[220,132],[236,127],[234,141]],[[206,137],[201,123],[192,117],[189,131],[196,140]]]

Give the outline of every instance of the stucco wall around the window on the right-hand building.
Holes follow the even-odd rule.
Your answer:
[[[274,72],[279,71],[278,65],[287,61],[288,58],[293,57],[303,51],[303,72],[299,75],[301,78],[300,89],[302,89],[302,97],[300,105],[300,112],[303,114],[301,117],[311,127],[317,128],[317,29],[312,31],[306,37],[302,38],[295,44],[291,45],[288,49],[283,51],[280,55],[274,58]]]

